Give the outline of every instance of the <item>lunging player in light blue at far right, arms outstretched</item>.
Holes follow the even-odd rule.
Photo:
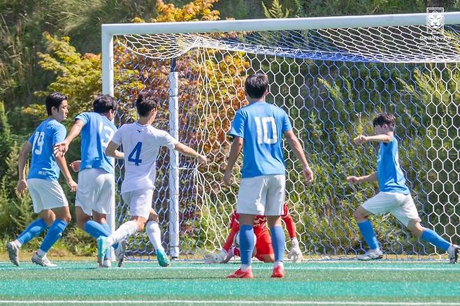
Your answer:
[[[401,221],[409,231],[417,238],[430,242],[447,252],[451,263],[456,263],[459,256],[459,247],[452,245],[429,228],[424,228],[420,221],[417,208],[415,207],[409,188],[405,185],[405,177],[398,157],[398,140],[394,137],[396,120],[394,115],[382,112],[373,120],[375,136],[359,135],[354,138],[356,145],[362,145],[368,141],[380,143],[377,156],[377,171],[361,177],[349,176],[347,182],[357,184],[360,182],[378,181],[380,192],[368,199],[363,205],[354,211],[354,218],[359,226],[359,231],[366,240],[369,250],[360,256],[361,261],[382,258],[383,254],[378,245],[371,222],[368,217],[371,214],[384,214],[391,212]]]

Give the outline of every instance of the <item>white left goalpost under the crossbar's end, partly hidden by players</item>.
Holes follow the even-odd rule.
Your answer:
[[[102,29],[101,35],[102,94],[114,96],[113,88],[113,34]],[[115,231],[115,201],[110,204],[110,213],[106,215],[110,233]],[[110,248],[110,258],[115,260],[115,252]]]

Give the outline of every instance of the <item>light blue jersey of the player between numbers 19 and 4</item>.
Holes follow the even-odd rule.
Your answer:
[[[81,131],[80,170],[102,168],[107,173],[115,173],[115,159],[106,156],[106,147],[117,131],[115,124],[97,112],[82,112],[75,119],[85,124]]]

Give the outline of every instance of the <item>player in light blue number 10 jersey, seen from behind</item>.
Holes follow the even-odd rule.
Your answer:
[[[299,140],[292,131],[287,113],[265,102],[268,78],[263,73],[250,75],[245,81],[245,94],[249,105],[238,110],[229,134],[233,136],[224,184],[231,184],[233,165],[243,150],[243,169],[236,212],[240,214],[241,268],[229,278],[253,278],[251,257],[254,249],[254,218],[267,217],[271,241],[275,252],[272,277],[284,277],[283,256],[285,233],[280,216],[285,203],[285,158],[282,154],[282,136],[301,161],[307,182],[313,173]]]

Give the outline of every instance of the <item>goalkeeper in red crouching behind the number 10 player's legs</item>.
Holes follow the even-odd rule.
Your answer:
[[[239,223],[239,214],[233,212],[231,214],[230,221],[230,234],[227,240],[224,243],[224,246],[220,250],[219,254],[210,254],[205,259],[206,263],[227,263],[233,256],[240,256],[240,249],[236,246],[233,246],[233,240],[235,235],[240,231]],[[283,214],[281,216],[282,221],[285,222],[287,232],[289,233],[289,238],[291,238],[291,249],[287,258],[292,259],[292,261],[298,263],[303,259],[301,249],[299,247],[299,240],[296,238],[296,226],[292,217],[289,214],[289,209],[285,204],[283,207]],[[264,261],[265,263],[273,263],[275,261],[275,254],[273,252],[273,246],[271,244],[270,233],[268,232],[268,227],[266,225],[265,216],[257,216],[254,219],[254,235],[256,236],[256,245],[254,247],[254,253],[252,256],[259,259],[259,261]]]

